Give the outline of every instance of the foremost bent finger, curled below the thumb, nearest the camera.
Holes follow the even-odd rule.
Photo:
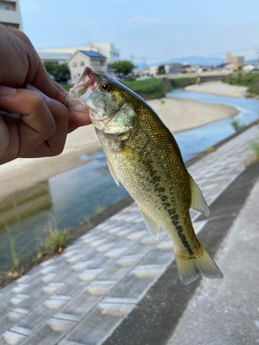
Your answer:
[[[37,92],[0,86],[0,106],[17,113],[19,156],[39,146],[55,132],[55,120],[44,99]]]

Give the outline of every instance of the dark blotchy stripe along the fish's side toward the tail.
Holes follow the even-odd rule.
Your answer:
[[[146,161],[145,163],[146,163],[146,166],[148,167],[148,171],[149,171],[150,175],[152,176],[153,184],[155,186],[155,191],[157,192],[158,196],[160,197],[160,199],[162,201],[162,205],[164,206],[166,211],[169,213],[169,216],[172,220],[173,226],[175,226],[175,229],[178,232],[178,237],[180,238],[184,248],[186,248],[189,255],[193,255],[194,254],[193,250],[191,250],[191,246],[189,245],[189,242],[188,242],[186,236],[184,235],[184,230],[178,221],[179,215],[176,215],[175,209],[171,208],[171,204],[168,201],[169,197],[167,197],[167,195],[164,194],[165,189],[162,186],[160,186],[160,184],[159,184],[160,176],[157,175],[157,171],[153,168],[151,162]]]

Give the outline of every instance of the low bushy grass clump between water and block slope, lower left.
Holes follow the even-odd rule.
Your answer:
[[[72,236],[68,229],[64,230],[50,230],[50,235],[44,239],[44,249],[47,253],[62,253],[64,248],[68,246],[68,240]]]

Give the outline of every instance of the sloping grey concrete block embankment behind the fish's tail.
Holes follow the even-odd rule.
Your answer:
[[[189,168],[208,204],[244,169],[258,135],[249,128]],[[191,215],[199,231],[206,221]],[[169,237],[162,230],[155,241],[134,203],[0,290],[0,345],[101,345],[172,262]]]

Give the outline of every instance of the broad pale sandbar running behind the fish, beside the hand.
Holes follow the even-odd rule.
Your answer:
[[[236,108],[185,99],[155,99],[148,102],[172,132],[209,124],[238,114]],[[64,152],[58,157],[15,159],[0,166],[0,203],[14,193],[30,188],[60,172],[86,161],[78,155],[101,148],[93,125],[78,128],[68,135]]]

